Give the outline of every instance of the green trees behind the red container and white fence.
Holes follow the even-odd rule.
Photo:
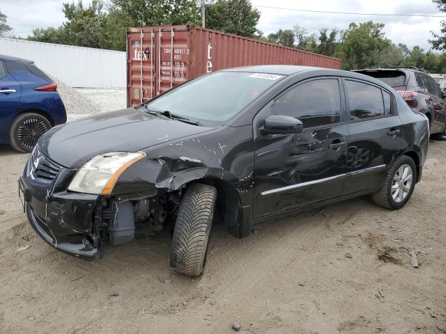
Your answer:
[[[446,0],[433,0],[440,10],[446,11]],[[125,50],[126,28],[130,26],[157,26],[169,24],[201,24],[201,10],[195,0],[93,0],[84,7],[77,3],[63,3],[66,22],[59,27],[35,29],[29,40],[40,42]],[[416,66],[427,72],[445,73],[446,54],[424,51],[418,46],[409,49],[395,45],[385,37],[384,24],[351,23],[339,31],[322,28],[318,34],[309,34],[298,26],[279,29],[263,36],[256,29],[260,13],[249,0],[216,0],[206,5],[206,27],[257,38],[286,47],[296,47],[326,56],[341,58],[343,67],[352,70],[377,66]],[[446,22],[443,22],[446,36]],[[0,12],[0,36],[11,31],[6,15]],[[436,36],[431,41],[436,49],[445,47],[446,37]],[[443,39],[442,39],[443,38]],[[443,43],[443,44],[442,44]]]

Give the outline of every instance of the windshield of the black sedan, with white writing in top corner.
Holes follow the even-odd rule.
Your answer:
[[[277,74],[215,72],[157,97],[146,107],[199,120],[203,125],[224,122],[282,78]]]

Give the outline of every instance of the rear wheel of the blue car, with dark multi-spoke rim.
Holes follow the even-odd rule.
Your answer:
[[[38,139],[51,129],[47,118],[38,113],[22,113],[11,123],[9,142],[14,150],[29,153],[36,146]]]

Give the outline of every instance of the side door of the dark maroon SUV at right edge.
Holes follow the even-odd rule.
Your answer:
[[[431,132],[443,132],[446,125],[446,103],[443,101],[440,86],[429,75],[423,74],[422,77],[429,95],[430,109],[433,111]]]

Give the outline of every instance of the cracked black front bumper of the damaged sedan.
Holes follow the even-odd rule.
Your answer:
[[[98,255],[100,238],[93,232],[98,196],[62,191],[52,193],[20,177],[24,212],[37,234],[49,245],[70,255]]]

